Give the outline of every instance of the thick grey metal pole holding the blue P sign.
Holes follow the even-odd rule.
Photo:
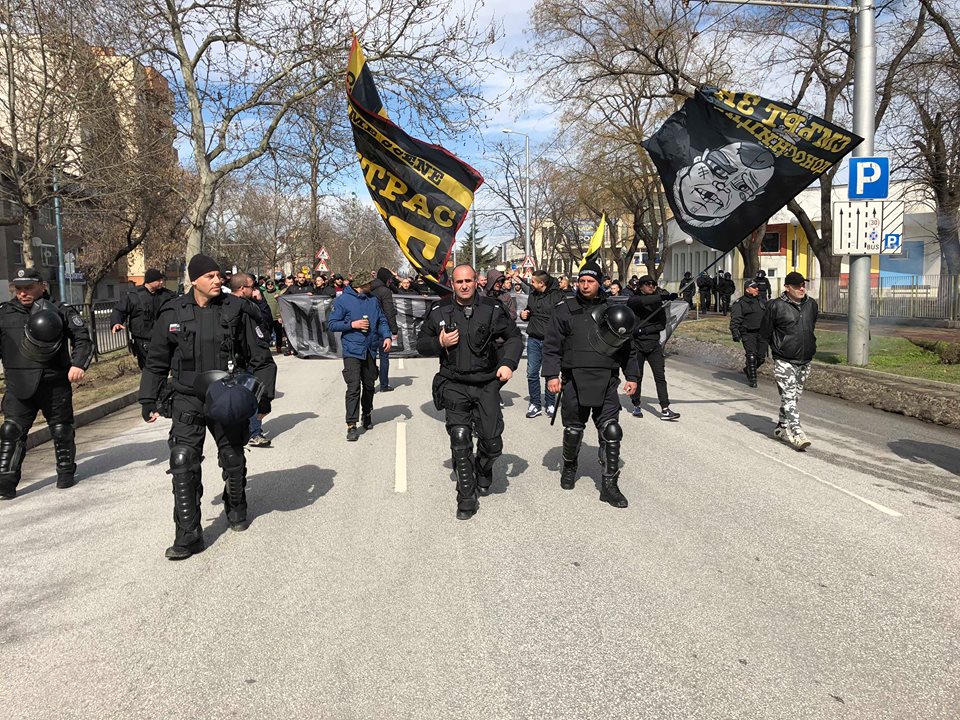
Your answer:
[[[873,155],[876,113],[877,48],[874,43],[876,9],[872,0],[859,0],[857,47],[853,78],[853,131],[863,142],[854,157]],[[866,365],[870,359],[870,256],[850,256],[850,310],[847,315],[847,363]]]

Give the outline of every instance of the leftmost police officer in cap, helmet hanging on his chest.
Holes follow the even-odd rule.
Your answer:
[[[57,487],[76,483],[73,390],[93,360],[93,343],[72,307],[49,300],[34,268],[18,270],[14,299],[0,305],[0,355],[6,380],[0,425],[0,499],[16,497],[27,433],[42,412],[53,437]],[[68,343],[72,347],[68,347]]]

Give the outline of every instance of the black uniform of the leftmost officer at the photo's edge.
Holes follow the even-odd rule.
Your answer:
[[[56,313],[62,325],[59,349],[43,361],[25,355],[22,346],[27,322],[41,309]],[[30,309],[16,299],[5,302],[0,305],[0,353],[7,386],[2,404],[4,421],[0,425],[0,497],[16,495],[27,433],[37,412],[43,413],[53,437],[57,487],[70,487],[77,470],[77,448],[73,389],[67,373],[71,367],[86,370],[93,360],[93,343],[83,318],[72,307],[45,298],[35,301]]]

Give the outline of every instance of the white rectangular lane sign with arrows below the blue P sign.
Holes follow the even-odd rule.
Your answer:
[[[834,255],[897,255],[902,240],[902,201],[833,204]]]

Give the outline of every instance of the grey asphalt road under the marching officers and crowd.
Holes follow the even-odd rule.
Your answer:
[[[518,376],[463,522],[435,361],[394,362],[358,443],[339,363],[279,364],[252,525],[226,530],[208,442],[185,562],[163,558],[165,424],[81,429],[69,490],[29,453],[0,504],[0,717],[960,716],[960,433],[808,394],[797,453],[769,381],[673,357],[682,417],[621,416],[615,510],[592,432],[560,489],[560,428],[524,417]]]

